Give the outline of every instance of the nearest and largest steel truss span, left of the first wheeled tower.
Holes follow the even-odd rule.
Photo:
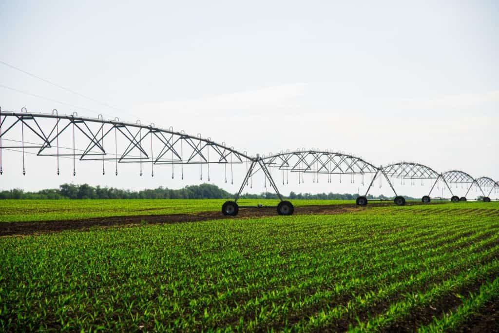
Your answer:
[[[22,132],[17,140],[7,139],[7,135],[18,129]],[[211,138],[203,138],[159,128],[151,123],[142,125],[140,121],[129,123],[98,118],[51,114],[5,112],[0,109],[0,139],[3,149],[37,149],[38,156],[72,156],[79,160],[112,160],[117,163],[159,164],[241,164],[252,160],[234,147],[220,144]],[[31,134],[36,142],[26,143],[25,136]],[[72,147],[59,146],[59,138],[69,134]],[[76,135],[78,138],[75,138]],[[20,140],[19,140],[20,139]],[[119,140],[118,140],[119,139]],[[5,144],[9,142],[9,144]],[[12,143],[13,142],[13,143]],[[104,142],[106,145],[104,145]],[[81,149],[76,149],[76,145]],[[120,147],[118,147],[120,145]],[[154,147],[158,147],[156,151]],[[50,149],[52,148],[52,149]],[[68,151],[69,150],[69,151]],[[211,157],[210,157],[211,154]]]

